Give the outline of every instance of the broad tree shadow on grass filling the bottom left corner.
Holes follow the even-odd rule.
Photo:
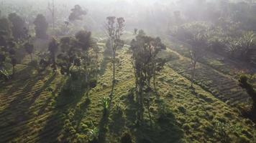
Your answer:
[[[3,124],[1,124],[0,126],[0,142],[10,141],[15,137],[18,137],[20,132],[29,128],[26,125],[22,125],[26,124],[27,121],[33,116],[31,114],[32,112],[29,111],[29,107],[31,107],[32,104],[34,104],[35,100],[40,97],[40,94],[47,87],[49,87],[49,85],[55,79],[55,74],[52,74],[52,76],[47,79],[42,87],[40,87],[39,89],[35,89],[35,91],[32,91],[32,88],[35,87],[35,84],[37,84],[37,82],[42,79],[43,77],[35,76],[33,80],[27,80],[25,82],[22,82],[24,84],[22,91],[19,92],[19,94],[16,94],[15,99],[9,102],[8,107],[6,107],[3,112],[1,112],[0,119],[1,123]]]

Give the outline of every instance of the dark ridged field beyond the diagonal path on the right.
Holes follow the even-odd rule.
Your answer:
[[[168,65],[187,79],[190,79],[191,61],[186,57],[186,55],[188,55],[186,45],[169,43],[169,47],[171,51],[175,50],[183,55],[175,52],[179,58],[170,61]],[[204,55],[204,59],[207,59],[208,56],[209,54]],[[228,72],[229,74],[227,74],[227,72],[221,70],[224,69],[223,67],[227,68],[228,71],[237,70],[234,66],[229,66],[229,64],[217,68],[216,66],[213,67],[199,63],[196,67],[196,84],[230,105],[247,103],[250,97],[239,87],[238,81],[234,77],[234,72]]]

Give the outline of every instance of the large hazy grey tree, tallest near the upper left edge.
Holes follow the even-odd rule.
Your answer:
[[[16,13],[9,14],[8,19],[12,22],[12,36],[14,36],[14,39],[24,39],[26,36],[24,31],[25,21]]]

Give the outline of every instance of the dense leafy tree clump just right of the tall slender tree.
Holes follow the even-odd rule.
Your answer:
[[[150,104],[149,101],[145,102],[145,93],[148,94],[146,99],[149,99],[151,91],[150,83],[152,79],[155,82],[155,74],[163,67],[164,62],[157,58],[157,54],[165,49],[165,45],[161,42],[160,38],[152,38],[145,36],[144,31],[140,31],[136,39],[132,39],[132,65],[134,68],[135,85],[137,91],[137,102],[140,104],[138,119],[143,119],[144,104]],[[150,114],[149,114],[150,116]]]

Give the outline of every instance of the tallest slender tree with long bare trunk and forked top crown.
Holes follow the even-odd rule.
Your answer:
[[[124,31],[124,18],[117,18],[115,16],[109,16],[106,18],[106,31],[109,34],[109,39],[111,39],[111,49],[112,49],[112,68],[113,68],[113,78],[112,78],[112,89],[110,97],[112,99],[114,94],[114,85],[116,82],[116,49],[124,46],[124,41],[122,41],[121,36]]]

